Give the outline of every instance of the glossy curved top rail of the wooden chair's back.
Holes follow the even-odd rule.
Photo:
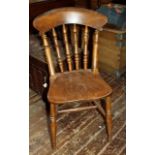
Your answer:
[[[106,23],[107,17],[96,11],[85,8],[64,7],[37,16],[33,21],[33,26],[40,33],[45,33],[51,28],[63,24],[81,24],[102,30]]]

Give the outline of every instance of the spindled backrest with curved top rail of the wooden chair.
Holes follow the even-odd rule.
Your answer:
[[[88,42],[89,42],[89,28],[95,29],[93,33],[93,47],[92,47],[92,70],[94,73],[98,72],[97,57],[98,57],[98,32],[102,30],[103,26],[107,23],[107,17],[92,10],[76,7],[59,8],[45,12],[44,14],[36,17],[33,21],[33,26],[40,32],[47,57],[50,75],[55,74],[55,67],[51,56],[51,47],[49,37],[53,37],[55,50],[58,58],[60,71],[64,72],[64,64],[62,61],[61,50],[59,46],[59,37],[57,28],[61,27],[62,38],[65,46],[65,54],[67,59],[67,68],[69,71],[80,69],[80,56],[79,56],[79,25],[83,28],[82,38],[82,51],[83,61],[82,68],[88,69]],[[71,39],[69,40],[69,26],[72,25]],[[69,42],[73,43],[74,60],[72,61],[72,53]],[[73,65],[75,64],[75,65]],[[73,67],[74,66],[74,67]]]

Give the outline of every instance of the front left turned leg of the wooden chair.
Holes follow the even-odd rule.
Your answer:
[[[51,140],[52,140],[53,149],[56,148],[56,133],[57,133],[56,115],[57,115],[56,105],[51,103],[50,104],[50,119],[51,119],[50,129],[51,129],[51,135],[52,135]]]

